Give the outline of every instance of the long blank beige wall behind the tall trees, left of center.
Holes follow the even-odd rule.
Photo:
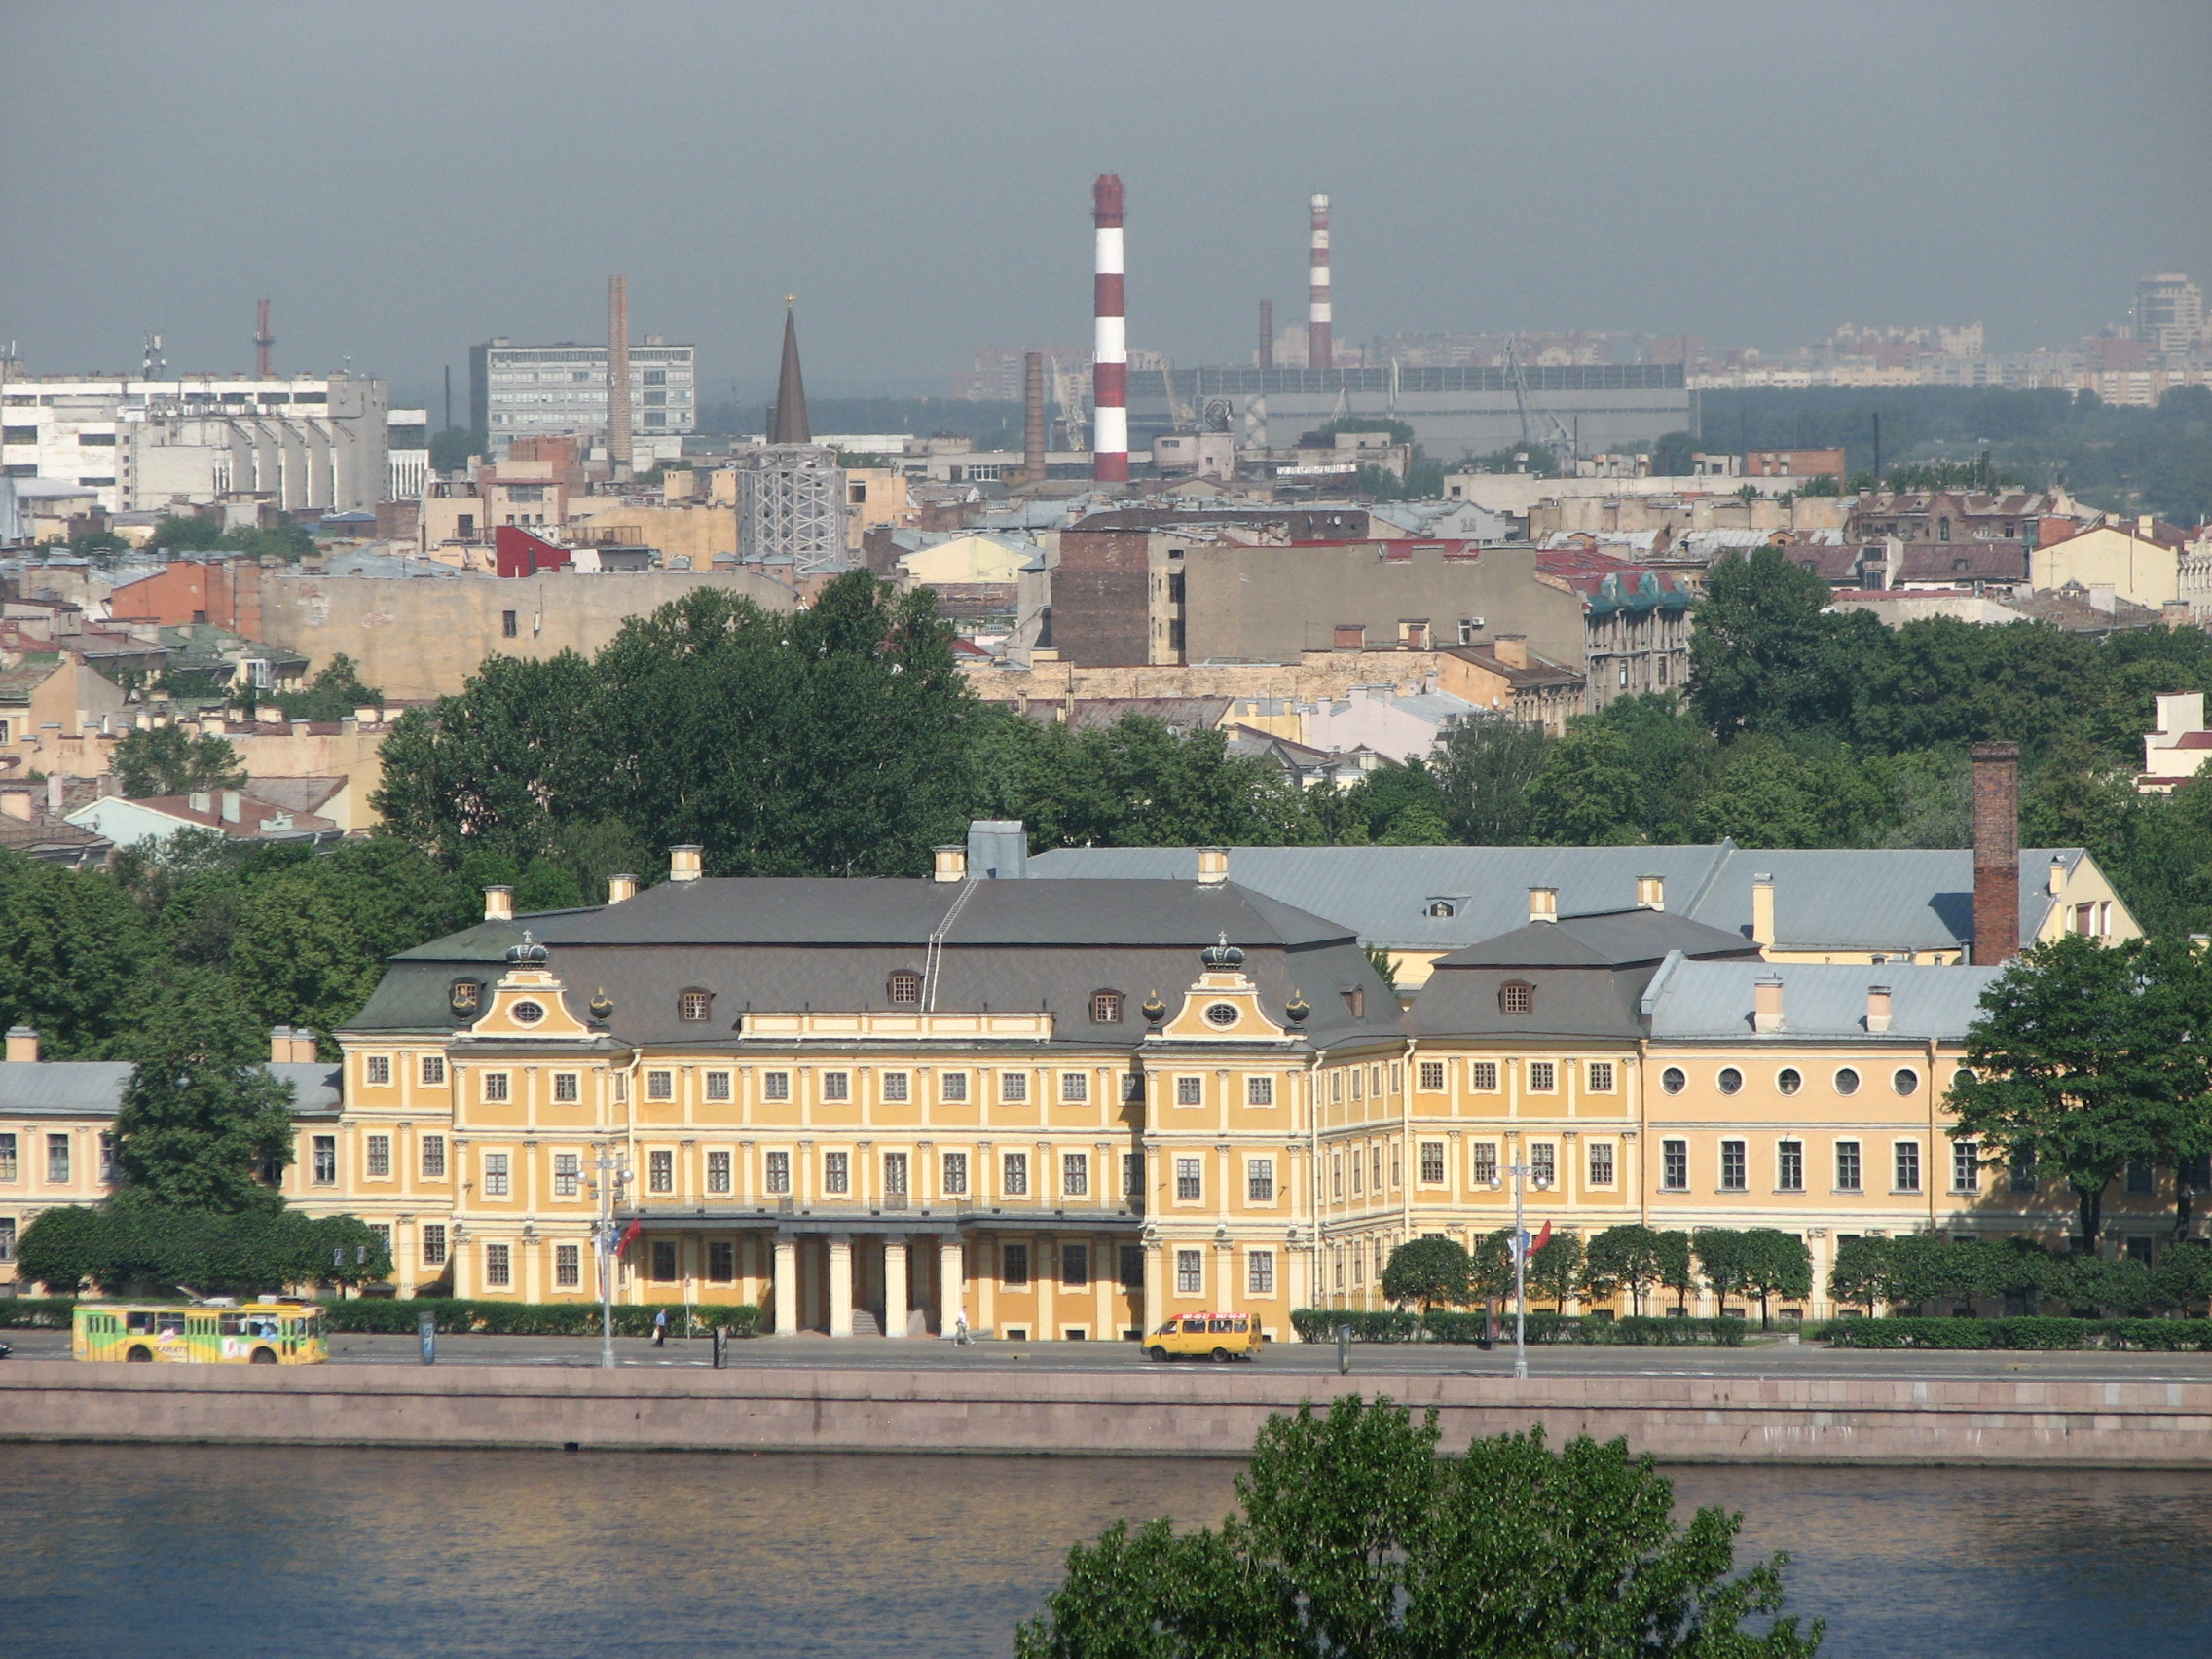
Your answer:
[[[263,639],[303,653],[310,672],[343,650],[385,697],[447,697],[484,657],[591,655],[630,617],[699,588],[792,608],[790,588],[752,571],[546,573],[509,582],[294,575],[263,584]],[[502,624],[507,613],[513,635]]]

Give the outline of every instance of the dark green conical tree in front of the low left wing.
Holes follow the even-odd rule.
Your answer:
[[[272,1210],[263,1166],[292,1161],[292,1086],[263,1062],[265,1037],[215,973],[177,971],[133,1037],[137,1066],[115,1113],[126,1188],[175,1210]]]

